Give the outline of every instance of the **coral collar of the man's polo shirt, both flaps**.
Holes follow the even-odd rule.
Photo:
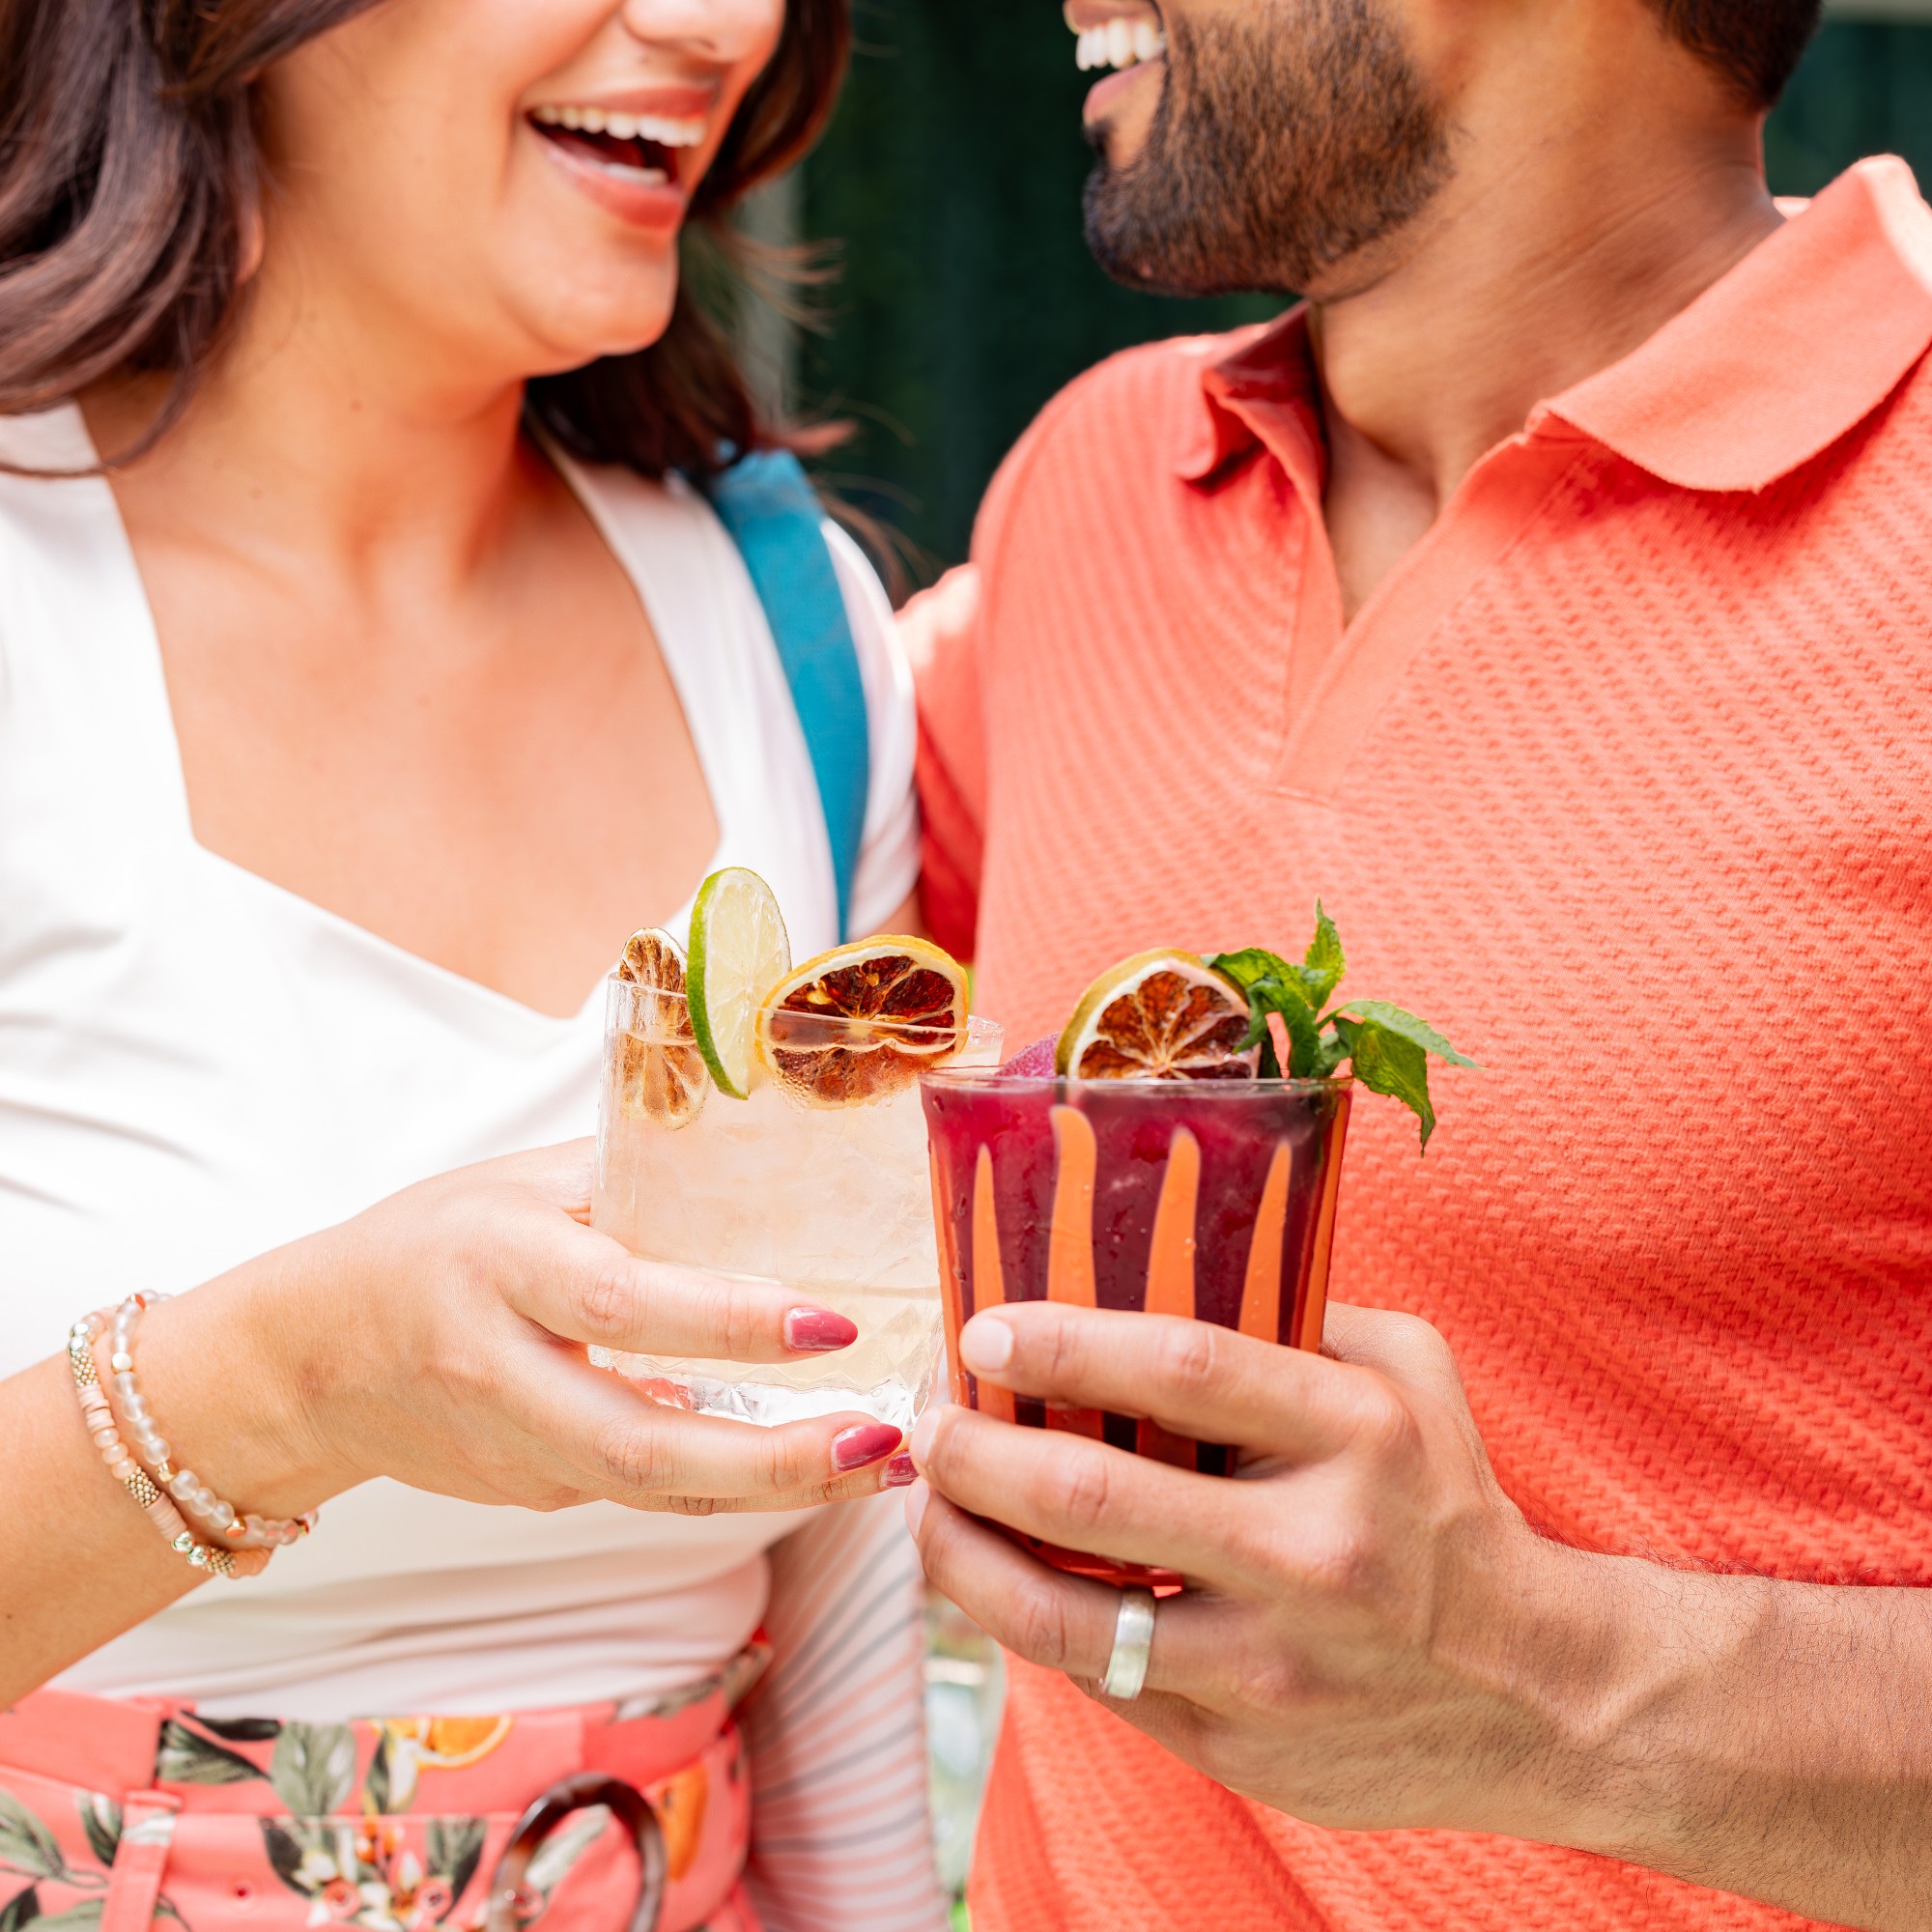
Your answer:
[[[1530,412],[1681,489],[1758,491],[1862,423],[1932,348],[1932,211],[1911,168],[1862,160],[1648,342]],[[1320,497],[1308,317],[1202,371],[1175,469],[1204,481],[1265,444]]]

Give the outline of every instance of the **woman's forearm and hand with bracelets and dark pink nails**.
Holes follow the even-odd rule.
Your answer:
[[[485,1161],[151,1308],[135,1362],[174,1464],[276,1517],[371,1476],[526,1509],[609,1497],[697,1515],[877,1492],[889,1426],[753,1428],[591,1368],[593,1343],[782,1362],[827,1335],[838,1347],[850,1323],[779,1287],[639,1262],[589,1227],[589,1175],[587,1142]],[[205,1573],[102,1464],[66,1354],[0,1383],[0,1443],[4,1708]]]

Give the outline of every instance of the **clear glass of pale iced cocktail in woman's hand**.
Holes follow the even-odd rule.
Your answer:
[[[775,1022],[781,1041],[815,1057],[817,1080],[779,1070],[732,1099],[711,1086],[684,997],[612,976],[591,1225],[645,1260],[796,1289],[854,1321],[858,1341],[794,1362],[591,1358],[707,1414],[777,1424],[864,1410],[910,1430],[943,1347],[918,1084],[906,1070],[873,1099],[829,1105],[823,1094],[840,1066],[864,1074],[879,1053],[991,1065],[1001,1032],[985,1020],[968,1020],[964,1039],[875,1020]]]

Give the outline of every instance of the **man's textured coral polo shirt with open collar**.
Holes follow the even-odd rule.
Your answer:
[[[1122,954],[1300,947],[1484,1072],[1364,1095],[1333,1293],[1453,1345],[1569,1544],[1932,1582],[1932,211],[1866,162],[1538,406],[1343,628],[1304,323],[1132,350],[912,630],[929,916],[1026,1041]],[[923,624],[922,624],[923,616]],[[1816,1687],[1820,1698],[1832,1687]],[[1335,1833],[1016,1665],[974,1932],[1795,1926]]]

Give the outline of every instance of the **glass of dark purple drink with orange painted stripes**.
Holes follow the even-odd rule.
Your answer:
[[[952,1399],[1225,1476],[1221,1443],[1144,1416],[1047,1408],[958,1364],[958,1331],[1001,1302],[1219,1321],[1321,1347],[1349,1080],[1053,1080],[972,1070],[920,1082]],[[1057,1569],[1175,1588],[1169,1571],[1007,1530]]]

